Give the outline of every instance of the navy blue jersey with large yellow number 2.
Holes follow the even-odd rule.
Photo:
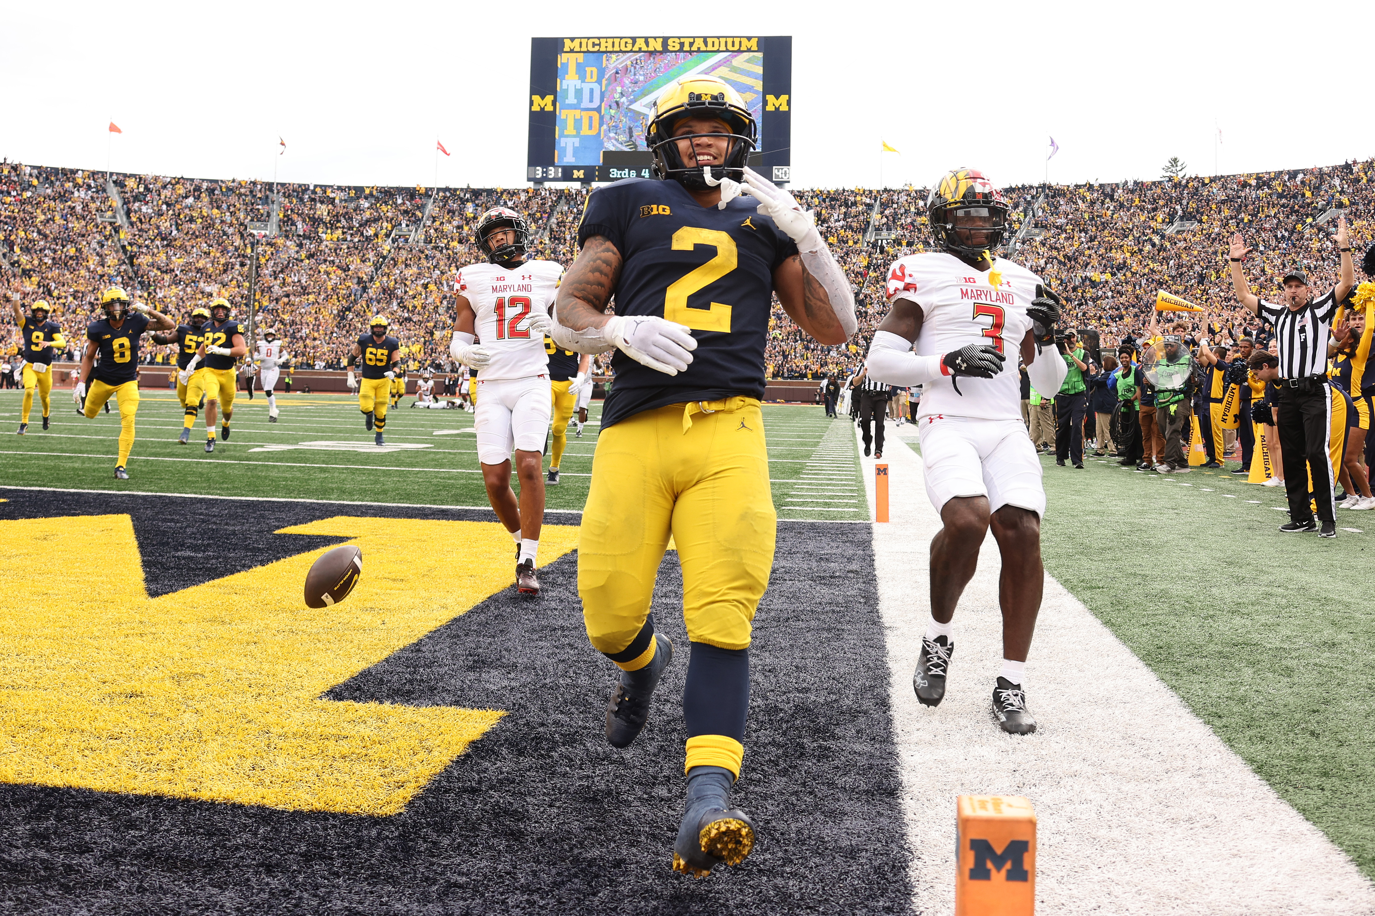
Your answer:
[[[587,196],[578,243],[620,251],[616,314],[656,314],[697,338],[686,372],[664,375],[619,350],[602,428],[666,404],[764,396],[773,273],[798,246],[754,198],[704,207],[676,181],[626,179]]]

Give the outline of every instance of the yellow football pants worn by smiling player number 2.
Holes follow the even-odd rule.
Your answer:
[[[661,407],[602,431],[578,547],[578,593],[593,645],[622,652],[644,628],[671,534],[688,639],[747,648],[776,529],[755,398]]]

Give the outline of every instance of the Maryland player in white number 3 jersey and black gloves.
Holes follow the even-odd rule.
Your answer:
[[[954,652],[952,618],[989,529],[1002,553],[1002,669],[993,713],[1013,735],[1035,731],[1023,669],[1045,570],[1041,463],[1019,411],[1020,354],[1037,391],[1059,391],[1067,364],[1055,347],[1060,299],[1041,279],[994,253],[1008,205],[982,173],[946,173],[927,199],[938,251],[898,260],[891,310],[869,349],[869,376],[923,385],[917,431],[927,496],[945,527],[931,541],[931,621],[913,674],[917,699],[945,696]],[[1011,360],[1009,365],[1005,361]]]

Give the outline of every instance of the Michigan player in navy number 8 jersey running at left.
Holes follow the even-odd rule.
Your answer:
[[[100,308],[104,317],[87,325],[87,346],[81,354],[81,378],[91,379],[85,398],[85,417],[95,419],[100,408],[114,397],[120,405],[120,457],[114,466],[114,477],[128,481],[124,466],[133,448],[133,417],[139,412],[139,336],[144,331],[170,331],[176,321],[150,309],[142,302],[132,306],[129,314],[129,294],[117,286],[100,294]],[[100,363],[96,364],[96,353]]]

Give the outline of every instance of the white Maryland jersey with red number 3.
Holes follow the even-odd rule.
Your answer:
[[[998,347],[1006,357],[991,379],[961,376],[960,390],[950,376],[927,382],[917,417],[936,413],[983,420],[1022,419],[1018,358],[1031,330],[1027,306],[1041,277],[1005,258],[993,269],[976,271],[943,251],[909,254],[888,271],[888,301],[910,299],[921,306],[921,331],[913,343],[917,356],[939,356],[971,343]],[[1060,358],[1053,352],[1040,360]],[[1055,394],[1049,391],[1048,394]]]

